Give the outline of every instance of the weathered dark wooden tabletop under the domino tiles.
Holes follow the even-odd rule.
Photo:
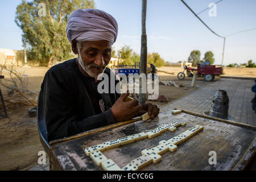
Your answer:
[[[143,149],[155,147],[160,140],[168,140],[192,126],[201,125],[204,126],[204,130],[177,145],[175,152],[167,151],[161,155],[162,160],[159,163],[151,163],[141,170],[232,170],[242,163],[250,147],[255,145],[255,129],[184,112],[174,115],[171,114],[170,109],[162,111],[159,114],[159,119],[154,121],[131,122],[108,130],[102,129],[103,131],[100,130],[93,134],[86,135],[86,133],[90,133],[88,131],[84,133],[85,136],[52,142],[50,158],[53,169],[103,170],[89,156],[86,156],[85,148],[126,135],[146,133],[162,123],[171,123],[175,118],[183,118],[187,121],[187,126],[179,126],[174,132],[165,131],[151,139],[145,138],[112,148],[104,151],[103,154],[122,168],[131,160],[141,156]],[[216,152],[217,164],[209,164],[210,151]]]

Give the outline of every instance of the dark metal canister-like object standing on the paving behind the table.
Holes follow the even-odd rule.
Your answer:
[[[225,90],[218,90],[213,96],[209,115],[216,118],[228,119],[229,97]]]

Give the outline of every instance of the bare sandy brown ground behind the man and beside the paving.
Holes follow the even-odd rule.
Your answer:
[[[17,71],[23,72],[28,76],[28,89],[38,92],[43,77],[47,72],[46,67],[35,68],[16,68]],[[182,68],[162,67],[159,70],[166,72],[173,72],[174,75],[159,72],[160,80],[179,81],[177,73],[183,71]],[[256,68],[228,68],[224,69],[225,73],[233,75],[250,75],[256,76]],[[232,71],[233,70],[233,71]],[[10,79],[6,73],[5,79]],[[214,81],[218,81],[216,77]],[[185,78],[181,83],[185,86],[175,88],[175,86],[159,85],[159,94],[164,94],[170,102],[177,100],[187,94],[194,92],[200,86],[210,84],[205,82],[203,78],[197,78],[196,86],[191,87],[192,78]],[[7,96],[7,91],[1,86],[3,97]],[[32,97],[32,96],[31,96]],[[34,96],[35,97],[35,96]],[[35,97],[36,100],[36,97]],[[169,103],[170,103],[169,102]],[[153,102],[162,107],[166,103]],[[20,170],[29,169],[38,161],[38,152],[43,150],[42,144],[39,140],[38,129],[36,125],[36,117],[28,117],[28,109],[31,106],[24,106],[20,104],[9,104],[5,102],[7,115],[9,118],[0,119],[0,170]]]

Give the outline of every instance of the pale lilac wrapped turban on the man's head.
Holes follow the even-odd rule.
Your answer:
[[[108,40],[113,44],[117,40],[118,24],[105,11],[78,9],[69,16],[66,32],[69,42]]]

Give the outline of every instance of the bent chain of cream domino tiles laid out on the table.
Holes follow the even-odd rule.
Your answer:
[[[103,151],[108,150],[109,148],[117,147],[121,144],[127,144],[134,142],[135,140],[143,139],[143,138],[152,138],[156,137],[160,133],[170,130],[175,131],[177,126],[185,126],[186,122],[180,120],[180,119],[174,119],[174,122],[170,124],[163,124],[159,127],[157,127],[154,130],[148,131],[147,133],[139,133],[130,135],[127,137],[118,138],[115,140],[111,140],[109,142],[104,142],[102,144],[98,144],[97,146],[92,146],[89,148],[85,148],[86,155],[90,156],[90,158],[93,159],[93,161],[97,164],[97,166],[102,166],[105,170],[108,171],[117,171],[121,170],[113,162],[112,159],[107,159],[106,156],[102,154]],[[159,146],[156,146],[154,148],[148,149],[142,151],[141,157],[134,159],[130,164],[127,164],[125,167],[122,168],[122,170],[128,171],[128,170],[138,170],[142,167],[146,166],[147,164],[150,164],[151,162],[157,163],[161,160],[160,154],[163,154],[167,150],[175,151],[177,149],[176,144],[181,143],[184,140],[187,140],[190,138],[193,134],[196,134],[197,132],[203,130],[202,126],[195,126],[191,129],[185,131],[184,133],[178,135],[177,137],[171,138],[169,140],[162,140],[159,142]]]

